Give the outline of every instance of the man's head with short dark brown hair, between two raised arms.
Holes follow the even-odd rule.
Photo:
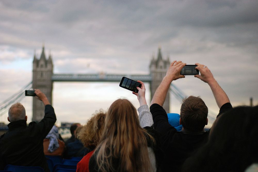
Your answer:
[[[208,108],[200,97],[189,96],[183,100],[180,110],[180,124],[190,132],[203,131],[208,123]]]

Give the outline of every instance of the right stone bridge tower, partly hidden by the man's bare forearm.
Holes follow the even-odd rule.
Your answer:
[[[150,75],[151,75],[151,83],[150,83],[150,90],[151,90],[151,99],[158,88],[159,84],[161,83],[163,77],[166,75],[167,69],[170,66],[169,58],[167,60],[162,59],[161,55],[161,48],[158,49],[158,57],[155,60],[154,56],[152,56],[152,60],[150,63]],[[167,113],[169,113],[169,91],[166,95],[165,102],[163,104],[163,108]]]

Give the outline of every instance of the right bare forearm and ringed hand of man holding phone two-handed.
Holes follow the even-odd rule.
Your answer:
[[[215,97],[216,103],[219,106],[219,108],[221,108],[221,106],[225,103],[230,103],[227,94],[217,83],[217,81],[213,77],[208,67],[199,63],[196,63],[195,65],[197,65],[196,69],[198,69],[201,74],[201,75],[195,75],[195,77],[199,78],[200,80],[207,83],[211,87],[212,93]]]

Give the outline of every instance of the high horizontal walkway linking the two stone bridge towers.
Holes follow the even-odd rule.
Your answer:
[[[142,82],[151,82],[151,75],[115,75],[115,74],[53,74],[52,81],[58,82],[120,82],[122,77]]]

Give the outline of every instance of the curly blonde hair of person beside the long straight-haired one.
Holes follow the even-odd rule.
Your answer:
[[[82,129],[79,131],[77,138],[84,144],[86,148],[95,149],[99,143],[104,128],[104,121],[107,113],[100,109],[92,114]]]

